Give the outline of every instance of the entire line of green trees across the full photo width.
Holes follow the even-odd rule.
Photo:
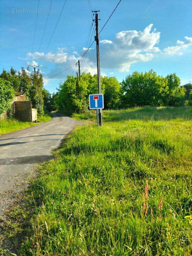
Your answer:
[[[79,79],[78,79],[79,80]],[[59,109],[68,112],[85,112],[88,110],[89,94],[98,93],[97,75],[83,73],[80,80],[67,76],[66,81],[59,85],[57,93],[51,94],[43,87],[43,76],[39,70],[29,75],[29,67],[19,72],[13,68],[3,70],[0,74],[0,114],[10,106],[15,92],[25,93],[31,100],[32,107],[38,115],[44,109]],[[135,106],[192,106],[192,84],[180,86],[180,78],[175,73],[165,77],[153,70],[133,72],[121,83],[116,77],[101,77],[101,89],[104,94],[105,109],[119,109]]]

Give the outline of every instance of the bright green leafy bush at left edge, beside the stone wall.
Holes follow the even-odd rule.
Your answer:
[[[10,82],[0,78],[0,115],[10,107],[14,94]]]

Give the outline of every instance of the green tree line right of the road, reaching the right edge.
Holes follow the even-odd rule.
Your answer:
[[[89,94],[98,93],[97,75],[83,73],[80,81],[74,76],[60,84],[55,102],[59,110],[84,112],[88,109]],[[135,106],[184,106],[192,105],[192,84],[180,86],[180,78],[175,73],[166,77],[153,70],[133,72],[119,83],[116,77],[101,77],[105,109]]]

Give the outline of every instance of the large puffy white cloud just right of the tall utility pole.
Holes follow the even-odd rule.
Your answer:
[[[153,24],[143,31],[127,30],[116,34],[113,41],[100,41],[100,62],[104,69],[129,71],[133,63],[152,60],[151,52],[159,52],[155,45],[159,43],[160,32],[151,31]],[[93,61],[95,56],[88,55]]]

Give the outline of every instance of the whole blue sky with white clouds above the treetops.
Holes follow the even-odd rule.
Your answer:
[[[92,9],[100,10],[100,28],[117,3],[118,0],[91,0]],[[38,0],[1,0],[0,72],[11,66],[19,70],[28,63],[37,63],[47,78],[81,57],[92,22],[88,0],[66,1],[45,53],[64,1],[52,0],[52,13],[39,51],[50,4],[51,0],[40,0],[32,52],[37,14],[31,12],[37,10]],[[100,55],[102,75],[116,76],[119,82],[133,71],[151,68],[163,76],[175,72],[181,84],[192,82],[192,0],[122,0],[100,34]],[[95,43],[82,71],[96,72]],[[44,87],[53,92],[71,73],[69,69],[44,80]]]

